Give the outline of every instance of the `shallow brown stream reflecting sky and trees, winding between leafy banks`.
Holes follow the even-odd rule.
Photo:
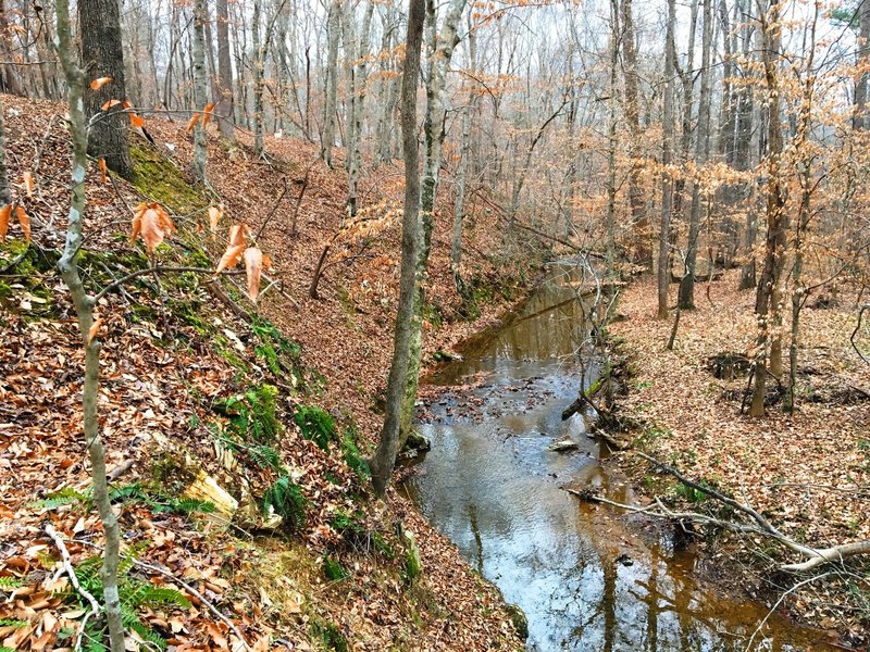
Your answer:
[[[644,535],[642,524],[630,527],[564,491],[632,500],[583,417],[561,421],[596,373],[577,352],[586,326],[575,280],[564,269],[552,274],[501,328],[430,379],[442,391],[421,410],[419,429],[432,451],[405,489],[523,610],[529,650],[833,650],[821,632],[775,614],[749,644],[763,605],[699,587],[691,551],[674,552],[658,530]],[[576,450],[549,450],[567,438]]]

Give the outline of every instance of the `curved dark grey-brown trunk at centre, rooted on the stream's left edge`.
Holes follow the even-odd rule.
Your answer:
[[[63,1],[63,0],[62,0]],[[405,214],[402,217],[401,277],[399,280],[399,310],[393,363],[387,383],[386,416],[381,439],[370,462],[372,485],[378,497],[386,496],[393,465],[399,450],[399,422],[405,393],[408,362],[411,356],[411,329],[418,317],[414,314],[417,264],[421,246],[420,173],[417,140],[417,78],[420,74],[420,49],[423,42],[425,0],[410,0],[408,11],[408,38],[405,51],[405,70],[401,78],[401,138],[405,155]]]

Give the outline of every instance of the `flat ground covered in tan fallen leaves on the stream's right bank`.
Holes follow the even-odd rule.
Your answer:
[[[849,341],[856,297],[846,290],[834,300],[810,297],[801,313],[797,410],[786,415],[776,400],[766,417],[751,418],[741,410],[746,368],[739,365],[754,346],[755,292],[738,292],[737,283],[730,272],[697,286],[697,308],[683,312],[672,351],[666,343],[673,315],[656,318],[655,278],[639,279],[622,294],[625,318],[610,333],[631,374],[620,414],[643,424],[629,435],[631,449],[753,505],[783,534],[816,549],[869,539],[870,366]],[[673,286],[674,302],[675,292]],[[867,329],[858,335],[866,352]],[[737,366],[731,369],[723,354]],[[642,494],[667,494],[691,511],[722,506],[681,491],[631,450],[617,460]],[[698,544],[709,552],[704,566],[711,577],[769,604],[791,590],[781,609],[798,620],[856,649],[870,642],[866,560],[792,576],[778,567],[803,560],[770,540],[729,535]],[[793,589],[813,575],[816,580]]]

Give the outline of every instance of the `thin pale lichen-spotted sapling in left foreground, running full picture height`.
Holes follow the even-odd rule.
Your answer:
[[[88,296],[78,274],[78,252],[83,244],[83,223],[85,217],[85,171],[87,166],[88,131],[83,95],[86,77],[75,62],[70,27],[69,0],[57,1],[58,11],[58,57],[63,67],[67,87],[70,108],[70,135],[73,145],[72,201],[66,224],[66,242],[58,268],[64,284],[70,289],[78,329],[85,349],[85,380],[82,388],[84,412],[84,438],[94,478],[94,501],[100,514],[105,535],[102,580],[105,619],[109,625],[109,641],[112,652],[124,652],[124,625],[121,612],[121,597],[117,590],[117,565],[121,552],[121,532],[112,504],[105,477],[105,450],[100,437],[97,417],[100,378],[100,342],[90,334],[94,325],[94,299]]]

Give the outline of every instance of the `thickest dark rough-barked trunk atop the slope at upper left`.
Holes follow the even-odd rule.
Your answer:
[[[86,77],[113,79],[99,90],[85,93],[85,114],[94,116],[101,113],[100,106],[105,101],[127,99],[119,0],[79,0],[78,24]],[[123,108],[116,105],[91,122],[88,135],[88,153],[105,159],[109,168],[125,178],[133,173],[127,143],[128,122]]]

